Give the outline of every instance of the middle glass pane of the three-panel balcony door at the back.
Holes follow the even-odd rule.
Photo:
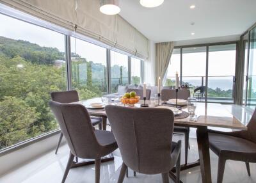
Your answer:
[[[199,86],[205,86],[206,47],[182,49],[182,84],[187,84],[191,92]]]

